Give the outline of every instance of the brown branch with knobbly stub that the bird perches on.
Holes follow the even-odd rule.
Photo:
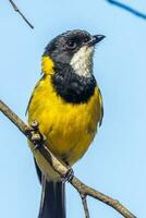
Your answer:
[[[25,124],[2,100],[0,100],[0,111],[7,116],[17,128],[19,130],[33,143],[32,152],[34,156],[38,156],[44,161],[47,161],[47,165],[51,165],[54,171],[57,171],[61,177],[65,178],[69,172],[69,167],[65,166],[62,161],[60,161],[47,148],[45,145],[45,137],[40,134],[38,126],[35,123],[32,123],[32,126]],[[136,218],[131,211],[129,211],[119,201],[113,199],[101,192],[98,192],[82,181],[80,181],[76,177],[72,177],[69,181],[82,196],[90,196],[94,197],[110,207],[114,208],[125,218]],[[84,210],[86,217],[87,214],[87,204],[84,202]],[[88,218],[87,217],[87,218]]]

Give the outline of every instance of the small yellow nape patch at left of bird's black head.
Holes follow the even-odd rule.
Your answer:
[[[45,75],[52,74],[54,72],[53,70],[54,63],[52,59],[49,56],[44,56],[41,60],[41,71]]]

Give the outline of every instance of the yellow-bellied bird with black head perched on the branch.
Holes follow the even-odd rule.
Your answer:
[[[70,168],[86,153],[102,122],[93,58],[104,38],[83,29],[56,36],[45,48],[42,75],[27,106],[28,123],[39,123],[48,149]],[[38,218],[65,218],[65,181],[37,153],[34,156],[41,184]]]

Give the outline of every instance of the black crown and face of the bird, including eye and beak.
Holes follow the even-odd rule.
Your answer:
[[[105,36],[102,35],[95,35],[92,36],[86,31],[68,31],[56,38],[53,38],[45,49],[44,56],[49,56],[54,63],[71,63],[71,60],[76,55],[87,56],[88,57],[93,53],[94,47],[97,43],[102,40]],[[84,57],[81,57],[84,59]],[[87,58],[87,57],[86,57]]]

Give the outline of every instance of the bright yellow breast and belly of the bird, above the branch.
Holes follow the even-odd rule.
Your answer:
[[[69,104],[56,94],[50,75],[47,75],[33,93],[28,122],[36,120],[40,132],[47,137],[48,148],[57,157],[73,165],[93,141],[100,121],[100,110],[98,88],[87,104]]]

